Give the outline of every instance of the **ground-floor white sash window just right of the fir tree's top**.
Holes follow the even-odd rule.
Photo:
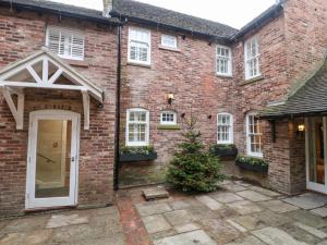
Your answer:
[[[217,144],[233,144],[233,115],[217,114]]]

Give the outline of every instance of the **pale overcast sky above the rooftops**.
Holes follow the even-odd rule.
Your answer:
[[[89,9],[102,9],[102,0],[52,0]],[[140,0],[178,12],[241,28],[276,0]]]

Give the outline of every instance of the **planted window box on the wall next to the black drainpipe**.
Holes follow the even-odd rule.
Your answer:
[[[157,157],[157,152],[153,146],[122,146],[120,147],[119,161],[153,161]]]

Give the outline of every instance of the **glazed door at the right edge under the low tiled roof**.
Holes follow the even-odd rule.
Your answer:
[[[305,119],[306,187],[327,194],[327,119],[323,117]]]

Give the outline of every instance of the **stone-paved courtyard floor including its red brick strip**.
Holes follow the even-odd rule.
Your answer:
[[[121,189],[117,206],[0,221],[0,245],[327,245],[327,196],[287,197],[241,181],[206,195],[145,201]]]

